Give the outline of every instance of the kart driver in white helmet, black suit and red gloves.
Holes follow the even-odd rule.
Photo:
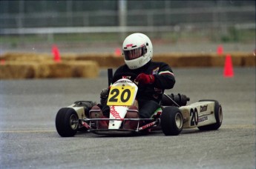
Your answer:
[[[129,110],[137,110],[141,119],[151,118],[160,107],[164,90],[174,87],[174,73],[168,64],[152,61],[153,45],[148,36],[142,33],[133,33],[128,36],[122,44],[122,51],[125,64],[117,68],[113,81],[132,78],[129,75],[134,75],[134,79],[131,80],[138,82],[138,107],[131,106]],[[102,90],[100,94],[102,104],[100,107],[102,107],[103,115],[106,117],[109,116],[109,107],[105,105],[108,92],[109,90]],[[99,107],[94,106],[92,110],[99,110]],[[126,118],[139,118],[139,116]]]

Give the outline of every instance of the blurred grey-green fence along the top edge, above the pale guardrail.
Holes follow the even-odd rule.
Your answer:
[[[121,2],[0,1],[0,28],[255,24],[255,1]]]

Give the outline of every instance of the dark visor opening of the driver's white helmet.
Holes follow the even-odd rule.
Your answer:
[[[123,50],[123,53],[125,55],[125,60],[133,60],[145,55],[145,53],[147,53],[147,47],[142,46],[132,50]]]

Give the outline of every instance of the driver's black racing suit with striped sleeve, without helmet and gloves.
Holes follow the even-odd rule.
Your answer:
[[[126,64],[122,65],[114,73],[113,82],[122,78],[134,80],[140,73],[154,75],[154,83],[139,84],[137,92],[140,118],[150,118],[154,111],[160,107],[159,104],[164,90],[174,87],[175,78],[168,64],[164,62],[148,62],[136,70],[129,69]]]

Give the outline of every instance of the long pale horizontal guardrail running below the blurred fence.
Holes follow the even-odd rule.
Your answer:
[[[255,29],[255,24],[225,24],[225,27],[234,26],[237,30]],[[62,34],[62,33],[126,33],[126,32],[179,32],[186,28],[223,27],[213,24],[181,24],[180,26],[146,26],[146,27],[30,27],[0,29],[0,35],[18,34]]]

